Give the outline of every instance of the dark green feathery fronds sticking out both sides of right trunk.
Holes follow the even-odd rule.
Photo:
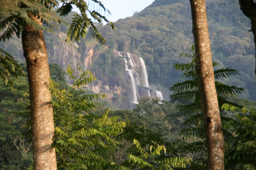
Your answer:
[[[190,48],[189,53],[182,52],[180,54],[181,57],[188,57],[191,58],[190,63],[178,63],[178,64],[173,64],[173,66],[180,70],[184,71],[183,73],[183,78],[188,78],[189,80],[185,80],[181,83],[176,83],[174,84],[170,90],[171,91],[176,91],[176,93],[170,95],[170,98],[172,99],[187,99],[189,101],[192,101],[188,104],[185,105],[180,105],[178,106],[178,110],[185,112],[185,113],[191,113],[194,114],[196,112],[200,112],[200,101],[199,101],[199,91],[198,91],[198,86],[197,86],[197,74],[195,71],[195,48],[194,45]],[[217,66],[218,64],[216,62],[213,62],[213,66]],[[214,71],[214,77],[215,79],[219,78],[226,78],[227,76],[232,76],[232,75],[238,75],[238,71],[234,69],[217,69]],[[218,103],[219,106],[221,107],[223,104],[227,103],[230,105],[234,105],[237,107],[241,107],[239,105],[236,105],[226,99],[223,98],[223,95],[233,95],[233,94],[239,94],[244,92],[243,88],[235,87],[235,86],[230,86],[223,84],[219,81],[215,81],[215,87],[216,87],[216,92],[218,95]]]

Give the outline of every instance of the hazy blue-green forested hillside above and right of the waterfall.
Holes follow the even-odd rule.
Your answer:
[[[105,32],[107,44],[144,58],[149,83],[168,88],[180,77],[171,66],[192,44],[189,5],[188,1],[156,0],[133,17],[118,20],[116,32]],[[212,55],[218,68],[240,71],[241,76],[223,81],[242,86],[248,90],[243,97],[255,100],[253,35],[248,32],[250,21],[239,8],[238,1],[207,1]]]

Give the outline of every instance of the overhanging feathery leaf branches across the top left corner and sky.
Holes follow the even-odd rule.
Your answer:
[[[59,3],[62,4],[60,7]],[[89,28],[92,37],[104,44],[105,39],[87,14],[90,14],[99,24],[103,24],[103,21],[105,21],[114,30],[115,26],[101,14],[101,11],[104,11],[107,15],[110,12],[97,0],[0,0],[0,31],[3,31],[0,36],[0,42],[9,40],[14,34],[20,38],[21,32],[24,31],[26,25],[30,25],[35,30],[48,32],[53,31],[51,27],[57,27],[56,23],[68,25],[61,16],[68,15],[72,10],[72,5],[75,5],[81,14],[74,14],[66,41],[80,41],[80,37],[85,38]],[[94,5],[97,5],[97,11],[92,10],[92,6],[93,9],[95,7]],[[56,13],[60,13],[60,16]],[[41,22],[35,22],[34,16],[41,19],[44,25],[41,25]],[[0,79],[4,81],[5,85],[13,88],[12,77],[20,75],[24,76],[24,73],[19,64],[10,54],[0,49]]]

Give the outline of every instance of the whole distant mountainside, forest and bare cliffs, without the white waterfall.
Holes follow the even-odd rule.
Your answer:
[[[221,81],[243,87],[245,92],[240,97],[255,100],[254,44],[252,33],[248,32],[249,20],[240,11],[238,2],[231,0],[207,1],[207,15],[213,61],[219,64],[217,68],[234,68],[240,73]],[[70,23],[71,15],[65,20]],[[49,62],[63,69],[71,65],[73,69],[79,66],[91,70],[98,81],[88,88],[106,93],[110,103],[126,108],[130,99],[125,95],[131,91],[131,80],[124,74],[124,60],[115,51],[127,51],[143,58],[149,89],[162,91],[163,98],[168,100],[168,88],[182,77],[172,65],[187,61],[180,59],[179,54],[188,51],[193,42],[189,2],[156,0],[134,16],[118,20],[115,26],[117,31],[101,27],[107,40],[104,46],[91,39],[90,33],[81,42],[66,43],[65,25],[61,25],[61,31],[45,33]],[[17,38],[2,46],[24,61]]]

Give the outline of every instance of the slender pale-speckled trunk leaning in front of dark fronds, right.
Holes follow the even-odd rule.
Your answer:
[[[196,72],[208,153],[208,170],[224,170],[224,136],[215,89],[205,0],[190,0]]]

